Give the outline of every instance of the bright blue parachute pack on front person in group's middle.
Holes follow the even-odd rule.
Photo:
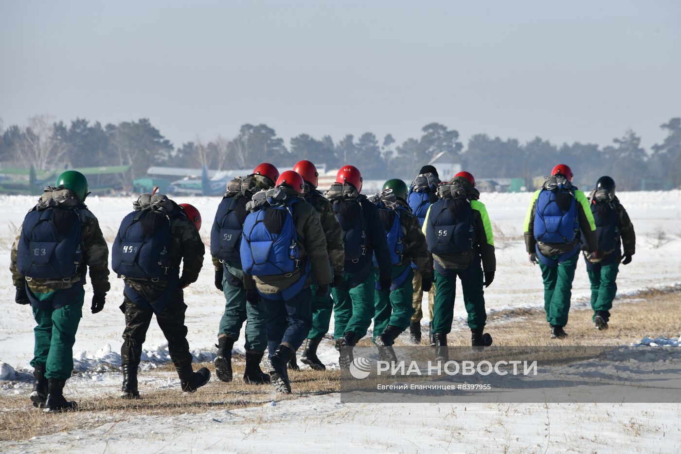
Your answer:
[[[302,290],[310,272],[309,260],[300,256],[294,223],[293,211],[298,202],[295,199],[287,200],[249,213],[244,222],[240,245],[241,264],[247,275],[289,277],[302,269],[298,280],[281,292],[281,298],[285,301]],[[279,299],[262,293],[261,296]]]

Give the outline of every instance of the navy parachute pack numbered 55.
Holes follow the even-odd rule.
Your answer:
[[[438,195],[440,199],[430,207],[428,215],[428,251],[441,256],[470,254],[473,262],[473,209],[464,185],[459,181],[441,184]]]

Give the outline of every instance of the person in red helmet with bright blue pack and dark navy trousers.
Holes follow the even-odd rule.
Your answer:
[[[276,187],[249,205],[240,244],[247,301],[267,313],[267,371],[274,388],[287,394],[287,365],[312,326],[313,275],[317,297],[325,297],[332,282],[319,215],[303,193],[298,173],[279,175]]]

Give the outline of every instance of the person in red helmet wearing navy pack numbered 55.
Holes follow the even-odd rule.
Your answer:
[[[428,251],[434,259],[435,297],[431,335],[437,356],[447,358],[447,334],[452,331],[456,279],[461,280],[471,329],[471,346],[490,346],[484,289],[494,280],[496,255],[492,223],[469,172],[459,172],[440,185],[440,200],[430,206],[424,222]],[[471,228],[473,236],[471,237]]]

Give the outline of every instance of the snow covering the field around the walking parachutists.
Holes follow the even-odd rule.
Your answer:
[[[633,262],[620,267],[618,294],[633,294],[646,288],[664,288],[681,282],[681,191],[630,192],[618,194],[627,209],[637,234],[637,253]],[[539,269],[530,264],[524,252],[522,224],[530,194],[485,193],[481,201],[487,205],[496,235],[498,269],[494,284],[486,292],[488,309],[509,307],[541,307],[542,287]],[[88,200],[105,237],[111,243],[118,224],[131,210],[132,198],[97,198]],[[218,198],[181,198],[202,213],[202,236],[208,245],[210,224]],[[0,318],[0,361],[20,372],[28,372],[33,350],[33,319],[29,307],[14,304],[14,287],[10,272],[10,247],[16,227],[22,222],[35,197],[0,196],[3,217],[0,220],[0,292],[5,295],[3,316]],[[80,324],[74,357],[76,369],[94,372],[101,365],[120,363],[118,350],[124,326],[118,310],[123,286],[110,276],[112,291],[103,312],[89,312],[91,289],[86,294],[86,310]],[[458,289],[460,294],[460,289]],[[577,267],[573,287],[573,304],[588,304],[588,278],[584,263]],[[210,257],[206,254],[204,269],[197,283],[185,290],[189,345],[195,357],[212,359],[217,327],[224,300],[213,286]],[[459,300],[460,301],[460,300]],[[465,311],[457,303],[455,326],[464,327]],[[426,320],[424,320],[426,322]],[[494,327],[489,326],[494,332]],[[655,337],[656,333],[650,333]],[[548,335],[547,335],[548,338]],[[146,337],[145,355],[149,361],[167,361],[165,339],[153,322]],[[548,340],[548,339],[547,339]],[[236,349],[243,350],[243,339]],[[678,347],[676,347],[678,348]],[[337,352],[324,341],[320,358],[337,367]],[[143,360],[145,358],[143,357]],[[113,392],[120,376],[103,373],[88,378],[69,380],[78,393]],[[175,380],[144,382],[140,387],[175,386]],[[16,389],[2,387],[0,393],[28,393],[29,383]],[[405,404],[377,408],[369,404],[340,404],[337,395],[326,395],[277,402],[263,407],[229,412],[215,411],[200,415],[180,415],[158,421],[131,419],[116,426],[116,441],[103,436],[110,424],[96,431],[59,437],[62,449],[122,451],[338,451],[340,440],[348,437],[353,451],[501,451],[506,445],[511,451],[544,451],[547,436],[552,440],[550,451],[678,452],[681,446],[678,425],[681,406],[678,404]],[[579,419],[575,425],[575,417]],[[635,417],[635,422],[633,418]],[[287,421],[285,425],[279,421]],[[151,436],[140,425],[153,427]],[[252,436],[251,431],[257,427]],[[548,432],[550,433],[548,435]],[[441,436],[448,434],[447,437]],[[300,446],[304,436],[305,446]],[[77,438],[76,438],[77,437]],[[225,438],[226,437],[226,438]],[[143,443],[143,444],[142,444]],[[631,444],[633,443],[633,444]],[[0,450],[2,445],[0,444]],[[48,448],[41,440],[23,445],[24,452]]]

